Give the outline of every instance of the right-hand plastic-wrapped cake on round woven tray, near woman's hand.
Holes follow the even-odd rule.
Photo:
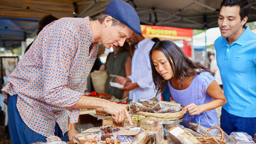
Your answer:
[[[152,107],[154,113],[179,112],[181,104],[175,102],[159,101]]]

